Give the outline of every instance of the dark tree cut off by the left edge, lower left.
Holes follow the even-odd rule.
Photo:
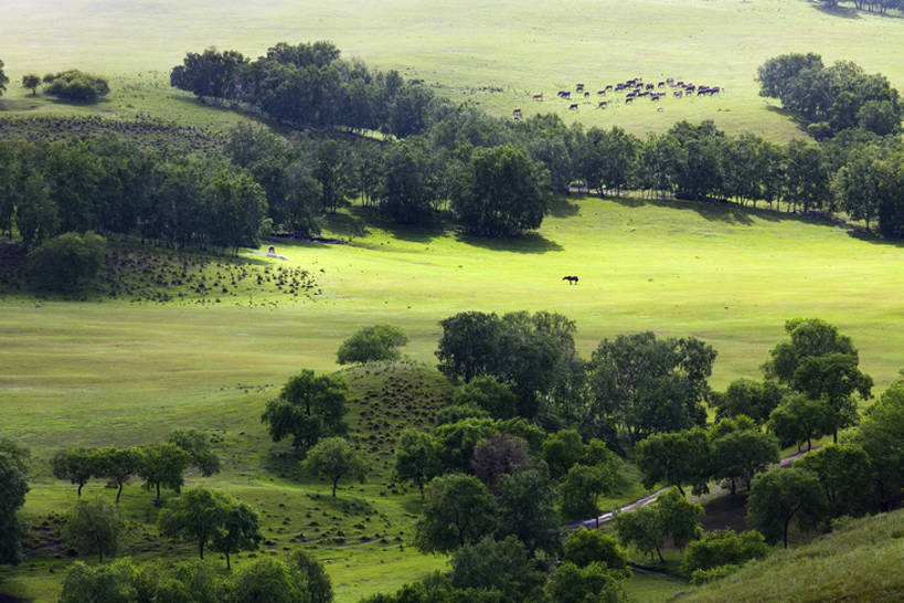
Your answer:
[[[0,438],[0,563],[19,563],[23,558],[28,525],[15,514],[29,491],[28,456],[24,448]]]

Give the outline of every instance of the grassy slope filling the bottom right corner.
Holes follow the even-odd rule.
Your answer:
[[[767,559],[681,601],[901,601],[904,510],[869,517]],[[687,589],[685,589],[687,590]]]

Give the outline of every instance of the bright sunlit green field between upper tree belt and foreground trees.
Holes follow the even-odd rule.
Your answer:
[[[333,234],[347,233],[355,219],[333,219]],[[38,458],[28,517],[40,520],[74,496],[72,486],[47,476],[44,462],[56,447],[146,444],[176,426],[212,430],[222,437],[227,470],[208,483],[268,514],[274,552],[311,546],[307,538],[289,540],[310,521],[300,519],[308,512],[325,526],[373,514],[386,518],[392,537],[386,544],[318,540],[313,549],[328,562],[341,600],[351,601],[443,567],[443,559],[405,547],[416,497],[387,491],[383,456],[363,490],[355,486],[341,496],[349,508],[330,510],[310,498],[326,493],[325,485],[270,456],[258,417],[265,401],[300,368],[334,370],[339,342],[361,325],[403,327],[412,336],[405,352],[433,363],[438,320],[450,314],[555,310],[576,320],[577,345],[587,356],[602,338],[619,332],[701,337],[719,350],[713,384],[724,387],[736,377],[758,375],[767,350],[783,337],[785,318],[818,316],[853,337],[878,390],[904,367],[904,248],[785,214],[582,198],[557,205],[538,234],[507,242],[371,228],[347,244],[276,245],[287,261],[255,261],[310,271],[321,295],[296,302],[262,290],[253,305],[243,299],[195,306],[35,302],[22,295],[0,300],[0,435],[31,447]],[[568,286],[563,274],[578,274],[579,284]],[[436,375],[415,372],[406,379],[429,384],[430,374]],[[372,387],[366,374],[355,379],[359,393]],[[435,388],[415,395],[415,404],[426,404]],[[404,422],[368,425],[361,404],[353,406],[353,433],[380,434],[375,454],[389,454]],[[131,486],[127,499],[136,518],[149,517],[148,494]],[[354,537],[373,536],[365,532]],[[191,554],[190,548],[174,552]],[[29,562],[4,589],[52,596],[63,563]],[[54,575],[50,567],[57,568]]]

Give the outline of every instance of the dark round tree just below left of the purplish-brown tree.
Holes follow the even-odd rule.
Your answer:
[[[492,533],[493,503],[474,476],[450,474],[427,485],[424,507],[415,522],[414,542],[424,552],[449,552]]]

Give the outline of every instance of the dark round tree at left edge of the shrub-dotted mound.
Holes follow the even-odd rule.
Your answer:
[[[317,377],[305,369],[286,382],[279,398],[267,402],[260,421],[268,424],[274,442],[291,435],[296,452],[301,452],[322,436],[345,433],[342,416],[347,394],[348,387],[341,378]]]

